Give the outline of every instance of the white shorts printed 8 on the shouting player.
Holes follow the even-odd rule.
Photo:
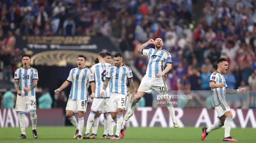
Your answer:
[[[73,100],[69,99],[66,104],[66,110],[70,110],[73,112],[84,111],[86,112],[87,101],[86,100]]]

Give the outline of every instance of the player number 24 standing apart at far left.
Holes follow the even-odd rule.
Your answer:
[[[19,125],[21,127],[20,139],[25,139],[25,114],[29,112],[32,122],[32,133],[34,138],[38,138],[36,131],[36,92],[35,87],[38,81],[38,72],[30,66],[30,55],[22,56],[22,67],[16,69],[14,74],[14,85],[18,92],[15,110],[19,112]]]

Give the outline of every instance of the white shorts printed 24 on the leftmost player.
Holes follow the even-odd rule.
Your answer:
[[[29,110],[36,110],[36,96],[17,95],[15,111],[29,112]]]

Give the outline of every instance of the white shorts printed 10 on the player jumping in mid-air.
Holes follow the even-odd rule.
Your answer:
[[[152,90],[156,90],[160,95],[167,94],[168,88],[165,81],[165,77],[160,77],[160,78],[143,77],[141,80],[141,84],[139,85],[138,91],[151,93]]]

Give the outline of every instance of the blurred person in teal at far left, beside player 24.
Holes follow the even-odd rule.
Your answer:
[[[15,95],[11,92],[10,89],[3,94],[2,107],[3,108],[14,108]]]

